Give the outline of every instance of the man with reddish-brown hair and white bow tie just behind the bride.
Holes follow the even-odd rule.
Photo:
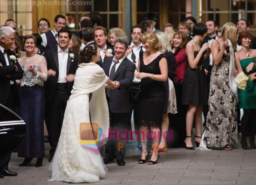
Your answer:
[[[103,26],[96,26],[94,28],[94,41],[97,45],[97,47],[99,48],[100,51],[100,62],[97,62],[97,64],[102,67],[104,58],[106,57],[111,57],[111,53],[108,52],[108,49],[112,49],[113,48],[111,46],[108,46],[106,44],[106,40],[107,40],[107,30],[106,28],[104,28]]]

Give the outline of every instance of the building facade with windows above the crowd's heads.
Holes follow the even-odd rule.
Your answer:
[[[38,32],[37,21],[43,17],[52,24],[57,14],[68,14],[75,31],[81,15],[95,11],[100,12],[107,29],[120,27],[130,35],[132,25],[143,21],[147,12],[154,12],[158,29],[168,22],[176,28],[187,16],[198,22],[214,19],[219,27],[247,19],[256,35],[255,10],[256,0],[0,0],[0,25],[14,19],[19,35],[25,35]]]

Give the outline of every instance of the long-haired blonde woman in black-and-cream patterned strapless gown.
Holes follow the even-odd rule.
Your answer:
[[[233,23],[223,26],[222,37],[211,44],[214,66],[210,80],[209,111],[204,141],[213,149],[231,150],[237,144],[237,86],[234,85],[234,50],[238,30]]]

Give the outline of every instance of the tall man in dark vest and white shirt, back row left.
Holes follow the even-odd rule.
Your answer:
[[[56,15],[54,18],[54,28],[52,31],[47,31],[41,35],[42,45],[46,49],[55,48],[58,45],[58,32],[66,25],[66,18],[64,15]]]

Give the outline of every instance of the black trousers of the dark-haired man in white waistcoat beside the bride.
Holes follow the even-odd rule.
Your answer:
[[[51,101],[45,103],[45,124],[50,143],[50,155],[55,153],[62,129],[62,122],[68,101],[66,83],[57,85],[56,92]]]

